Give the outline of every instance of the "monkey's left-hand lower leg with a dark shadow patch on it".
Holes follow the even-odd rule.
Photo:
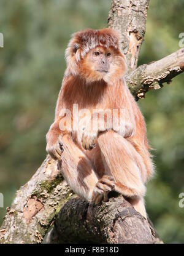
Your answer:
[[[73,142],[70,135],[62,137],[61,172],[72,190],[87,201],[92,201],[98,182],[90,159]]]

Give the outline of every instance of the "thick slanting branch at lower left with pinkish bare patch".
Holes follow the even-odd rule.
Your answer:
[[[0,243],[39,243],[55,214],[71,198],[57,161],[47,156],[36,174],[17,191],[0,230]]]

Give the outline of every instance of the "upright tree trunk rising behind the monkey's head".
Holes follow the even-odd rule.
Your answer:
[[[149,0],[112,0],[108,26],[120,31],[122,50],[126,55],[128,73],[137,66],[144,39]]]

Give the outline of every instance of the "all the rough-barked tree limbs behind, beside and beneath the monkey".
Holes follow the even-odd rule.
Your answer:
[[[145,34],[148,0],[113,0],[108,24],[120,30],[128,60],[129,89],[138,99],[183,71],[183,49],[136,69]],[[135,70],[136,69],[136,70]],[[55,227],[47,234],[55,220]],[[80,233],[80,236],[79,236]],[[1,243],[161,242],[151,223],[122,196],[99,206],[77,199],[49,156],[17,191],[0,230]]]

